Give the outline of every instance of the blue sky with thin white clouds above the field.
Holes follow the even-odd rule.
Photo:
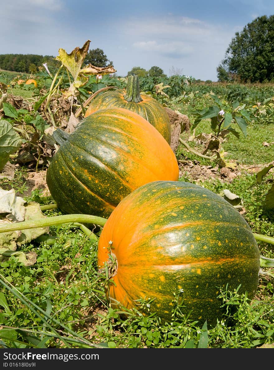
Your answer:
[[[273,0],[0,0],[0,54],[67,53],[90,40],[116,74],[162,68],[217,81],[236,32],[274,14]]]

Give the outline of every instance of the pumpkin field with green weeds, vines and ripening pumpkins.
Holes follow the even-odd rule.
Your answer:
[[[274,84],[0,71],[0,347],[273,348]]]

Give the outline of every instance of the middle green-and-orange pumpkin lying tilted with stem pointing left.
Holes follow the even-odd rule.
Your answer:
[[[179,178],[172,149],[137,113],[99,110],[75,131],[54,131],[60,148],[47,169],[48,189],[65,213],[107,218],[133,190],[156,180]]]

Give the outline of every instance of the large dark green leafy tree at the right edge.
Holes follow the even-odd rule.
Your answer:
[[[236,32],[217,67],[218,78],[224,71],[243,82],[274,79],[274,16],[258,17]]]

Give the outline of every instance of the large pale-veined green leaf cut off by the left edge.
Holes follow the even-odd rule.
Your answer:
[[[21,137],[13,129],[10,122],[0,120],[0,171],[9,160],[9,155],[15,153],[21,147],[21,144]]]

